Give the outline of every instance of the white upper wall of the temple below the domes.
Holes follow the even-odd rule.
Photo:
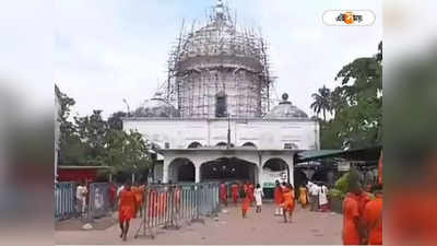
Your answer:
[[[227,119],[125,119],[125,130],[138,130],[165,148],[187,149],[191,142],[214,147],[227,142]],[[319,126],[312,120],[231,120],[231,142],[241,147],[252,142],[260,150],[281,150],[294,143],[299,150],[319,149]]]

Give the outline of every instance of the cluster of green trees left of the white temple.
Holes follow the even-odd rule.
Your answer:
[[[62,164],[108,165],[113,174],[142,174],[151,168],[150,144],[138,131],[122,130],[123,112],[114,113],[108,120],[103,119],[102,110],[93,110],[85,117],[71,118],[74,99],[55,91],[60,102],[60,154]]]

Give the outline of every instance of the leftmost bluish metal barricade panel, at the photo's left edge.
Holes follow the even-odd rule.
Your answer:
[[[55,184],[55,219],[69,219],[75,214],[75,184],[72,181]]]

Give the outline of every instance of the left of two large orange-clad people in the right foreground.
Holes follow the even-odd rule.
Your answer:
[[[350,188],[343,201],[343,244],[359,245],[362,244],[363,232],[361,229],[358,196],[361,189],[357,185]]]

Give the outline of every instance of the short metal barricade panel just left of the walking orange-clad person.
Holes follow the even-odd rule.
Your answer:
[[[109,213],[109,184],[92,183],[88,192],[88,219],[102,218]]]

